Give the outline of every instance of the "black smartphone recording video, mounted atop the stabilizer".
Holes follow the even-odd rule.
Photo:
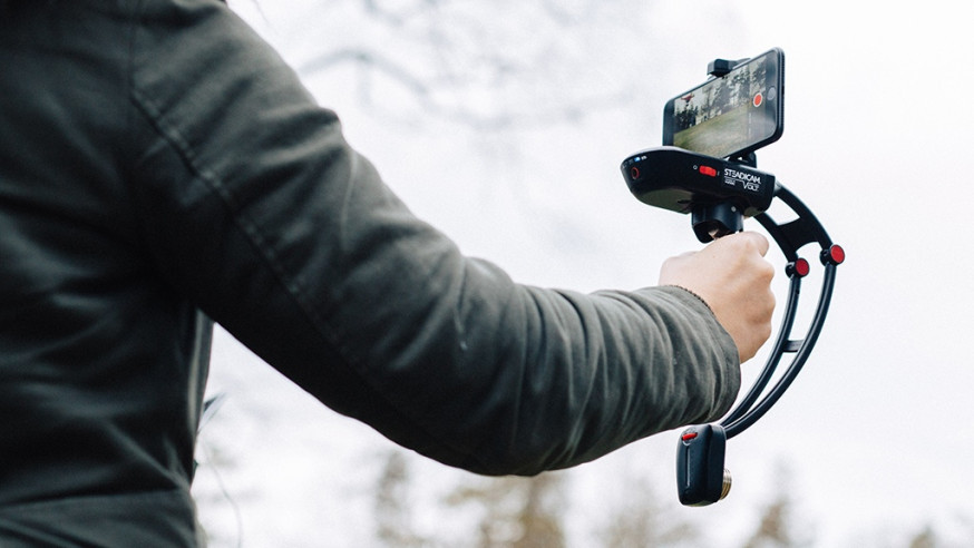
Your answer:
[[[737,158],[785,130],[785,52],[773,48],[666,101],[663,145]]]

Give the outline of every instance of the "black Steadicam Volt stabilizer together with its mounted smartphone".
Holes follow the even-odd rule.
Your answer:
[[[763,417],[801,371],[821,333],[836,268],[846,258],[845,251],[832,243],[811,211],[775,175],[756,167],[754,150],[781,135],[783,101],[783,53],[775,49],[759,58],[764,59],[760,63],[753,59],[712,62],[711,80],[668,102],[664,116],[670,118],[664,121],[664,146],[639,151],[621,166],[630,192],[639,200],[690,215],[700,242],[740,232],[744,219],[753,218],[775,239],[787,261],[788,297],[761,373],[721,421],[693,425],[680,434],[676,487],[680,502],[686,506],[711,505],[729,493],[731,478],[724,467],[727,441]],[[770,96],[775,97],[773,106],[769,105]],[[762,107],[773,112],[752,111]],[[772,118],[773,128],[768,126]],[[756,130],[749,126],[753,124],[761,126]],[[733,135],[720,135],[728,131]],[[673,138],[681,133],[684,135],[679,139]],[[751,138],[754,135],[758,137]],[[732,143],[721,149],[732,151],[727,157],[717,157],[671,146],[674,141],[685,147],[700,144],[701,149],[708,150],[720,149],[713,148],[714,144]],[[768,215],[776,199],[795,214],[792,221],[779,224]],[[808,331],[795,337],[792,327],[801,281],[812,268],[799,252],[809,245],[817,247],[817,262],[824,268],[821,288]],[[790,354],[790,363],[769,388],[785,354]]]

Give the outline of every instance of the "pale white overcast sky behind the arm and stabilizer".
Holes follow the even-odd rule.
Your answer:
[[[781,402],[729,443],[734,487],[728,500],[707,509],[679,507],[671,477],[675,433],[582,473],[612,478],[639,461],[659,470],[653,477],[664,482],[661,500],[678,507],[676,516],[734,531],[733,523],[775,492],[773,470],[785,463],[802,522],[817,531],[815,546],[882,546],[925,523],[964,531],[970,541],[972,4],[683,1],[615,11],[587,4],[565,4],[559,14],[571,25],[563,30],[523,18],[527,22],[501,31],[491,19],[484,21],[483,42],[440,35],[469,48],[470,58],[478,43],[530,53],[524,58],[537,71],[523,76],[522,87],[515,81],[494,95],[483,84],[458,87],[457,97],[474,98],[464,112],[481,123],[496,123],[490,112],[499,110],[523,118],[523,126],[506,129],[449,119],[464,105],[455,97],[438,98],[447,119],[425,119],[422,105],[403,91],[405,80],[363,79],[351,66],[315,69],[332,39],[350,40],[340,29],[377,51],[405,49],[393,43],[402,36],[370,27],[355,10],[359,2],[279,0],[262,2],[262,12],[250,2],[232,6],[285,59],[305,67],[305,82],[338,110],[352,145],[417,214],[522,282],[579,291],[651,285],[663,258],[699,247],[688,218],[629,195],[619,163],[660,144],[663,102],[702,81],[711,59],[782,48],[785,136],[759,151],[759,166],[798,194],[848,254],[819,344]],[[517,6],[494,9],[528,9]],[[477,9],[486,14],[487,8]],[[468,36],[457,17],[450,28]],[[535,32],[563,32],[553,43],[574,47],[545,62],[530,50],[547,43]],[[468,77],[457,56],[439,66],[459,67],[454,76]],[[429,59],[410,62],[419,76],[435,74]],[[591,112],[545,123],[546,116],[571,114],[563,107],[573,104]],[[771,260],[783,266],[780,256]],[[783,281],[779,274],[780,300]],[[818,290],[803,291],[814,300]],[[293,535],[290,546],[304,546],[298,539],[308,541],[308,528],[320,527],[347,539],[335,546],[361,539],[347,530],[348,517],[367,510],[361,491],[379,466],[362,454],[388,442],[319,410],[225,337],[217,342],[213,386],[231,398],[208,436],[236,461],[225,474],[233,479],[227,488],[237,489],[246,538],[260,546],[264,535]],[[759,368],[744,365],[747,374]],[[273,442],[265,446],[273,447],[251,447],[267,436]],[[603,503],[614,491],[586,492],[579,507]],[[292,506],[293,499],[300,502]]]

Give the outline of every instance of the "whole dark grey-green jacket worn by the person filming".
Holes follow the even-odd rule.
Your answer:
[[[0,545],[186,546],[211,320],[441,462],[530,474],[724,412],[675,287],[513,283],[417,219],[215,0],[0,22]]]

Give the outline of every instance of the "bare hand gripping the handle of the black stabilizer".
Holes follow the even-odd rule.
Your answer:
[[[766,253],[764,236],[743,232],[668,258],[660,271],[660,285],[683,287],[710,306],[738,345],[741,363],[771,336],[775,268],[763,258]]]

